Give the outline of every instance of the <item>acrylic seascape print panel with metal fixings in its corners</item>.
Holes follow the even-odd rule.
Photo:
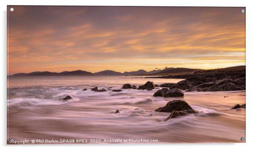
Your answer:
[[[245,13],[7,6],[7,144],[245,142]]]

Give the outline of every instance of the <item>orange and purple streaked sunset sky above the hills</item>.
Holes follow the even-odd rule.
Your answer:
[[[8,75],[245,65],[242,7],[9,8]]]

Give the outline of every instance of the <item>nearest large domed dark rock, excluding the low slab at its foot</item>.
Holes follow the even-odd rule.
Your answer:
[[[159,107],[155,111],[157,112],[172,112],[172,111],[188,111],[189,114],[198,113],[193,110],[184,100],[173,100],[168,102],[164,107]]]

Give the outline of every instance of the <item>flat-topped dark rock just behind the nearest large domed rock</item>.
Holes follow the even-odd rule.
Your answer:
[[[183,97],[184,92],[181,89],[167,89],[162,88],[157,90],[154,95],[154,97]]]

